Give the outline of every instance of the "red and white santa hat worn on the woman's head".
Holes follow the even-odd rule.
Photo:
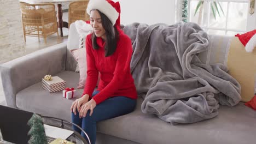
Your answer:
[[[89,15],[92,9],[101,11],[101,13],[108,17],[113,25],[120,27],[121,9],[119,2],[115,3],[110,0],[90,0],[86,9]]]

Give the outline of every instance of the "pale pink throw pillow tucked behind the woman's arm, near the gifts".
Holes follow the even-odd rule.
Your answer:
[[[71,50],[72,55],[74,56],[75,61],[78,62],[80,78],[78,81],[78,89],[84,88],[84,84],[87,77],[87,63],[86,63],[86,49],[73,49]],[[100,81],[100,73],[98,74],[98,82]],[[97,86],[98,86],[97,82]]]

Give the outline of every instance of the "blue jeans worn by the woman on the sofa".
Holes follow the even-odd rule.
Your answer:
[[[92,97],[99,91],[92,93]],[[90,110],[87,112],[86,117],[79,118],[79,113],[74,115],[72,112],[72,122],[79,125],[89,136],[92,144],[96,142],[96,123],[104,119],[114,118],[132,112],[136,106],[136,99],[131,99],[123,96],[113,97],[104,100],[102,103],[96,105],[94,112],[90,116]],[[82,131],[73,125],[73,129],[80,133],[85,140],[87,137]]]

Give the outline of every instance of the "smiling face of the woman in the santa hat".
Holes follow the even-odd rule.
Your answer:
[[[106,40],[106,31],[102,26],[101,15],[97,10],[91,10],[90,23],[92,28],[94,28],[96,37],[101,37],[102,39]]]

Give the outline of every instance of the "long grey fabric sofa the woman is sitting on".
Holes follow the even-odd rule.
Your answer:
[[[69,50],[78,47],[78,39],[74,24],[71,24],[67,42],[2,64],[0,70],[7,105],[71,121],[69,108],[78,97],[65,99],[62,92],[50,94],[41,87],[40,81],[44,75],[51,74],[65,80],[66,87],[77,86],[79,73],[74,72],[76,62]],[[83,89],[77,89],[77,95],[82,93]],[[96,142],[255,143],[256,111],[242,102],[234,107],[220,106],[219,115],[207,121],[170,125],[154,115],[142,113],[142,101],[138,98],[132,113],[99,122]]]

